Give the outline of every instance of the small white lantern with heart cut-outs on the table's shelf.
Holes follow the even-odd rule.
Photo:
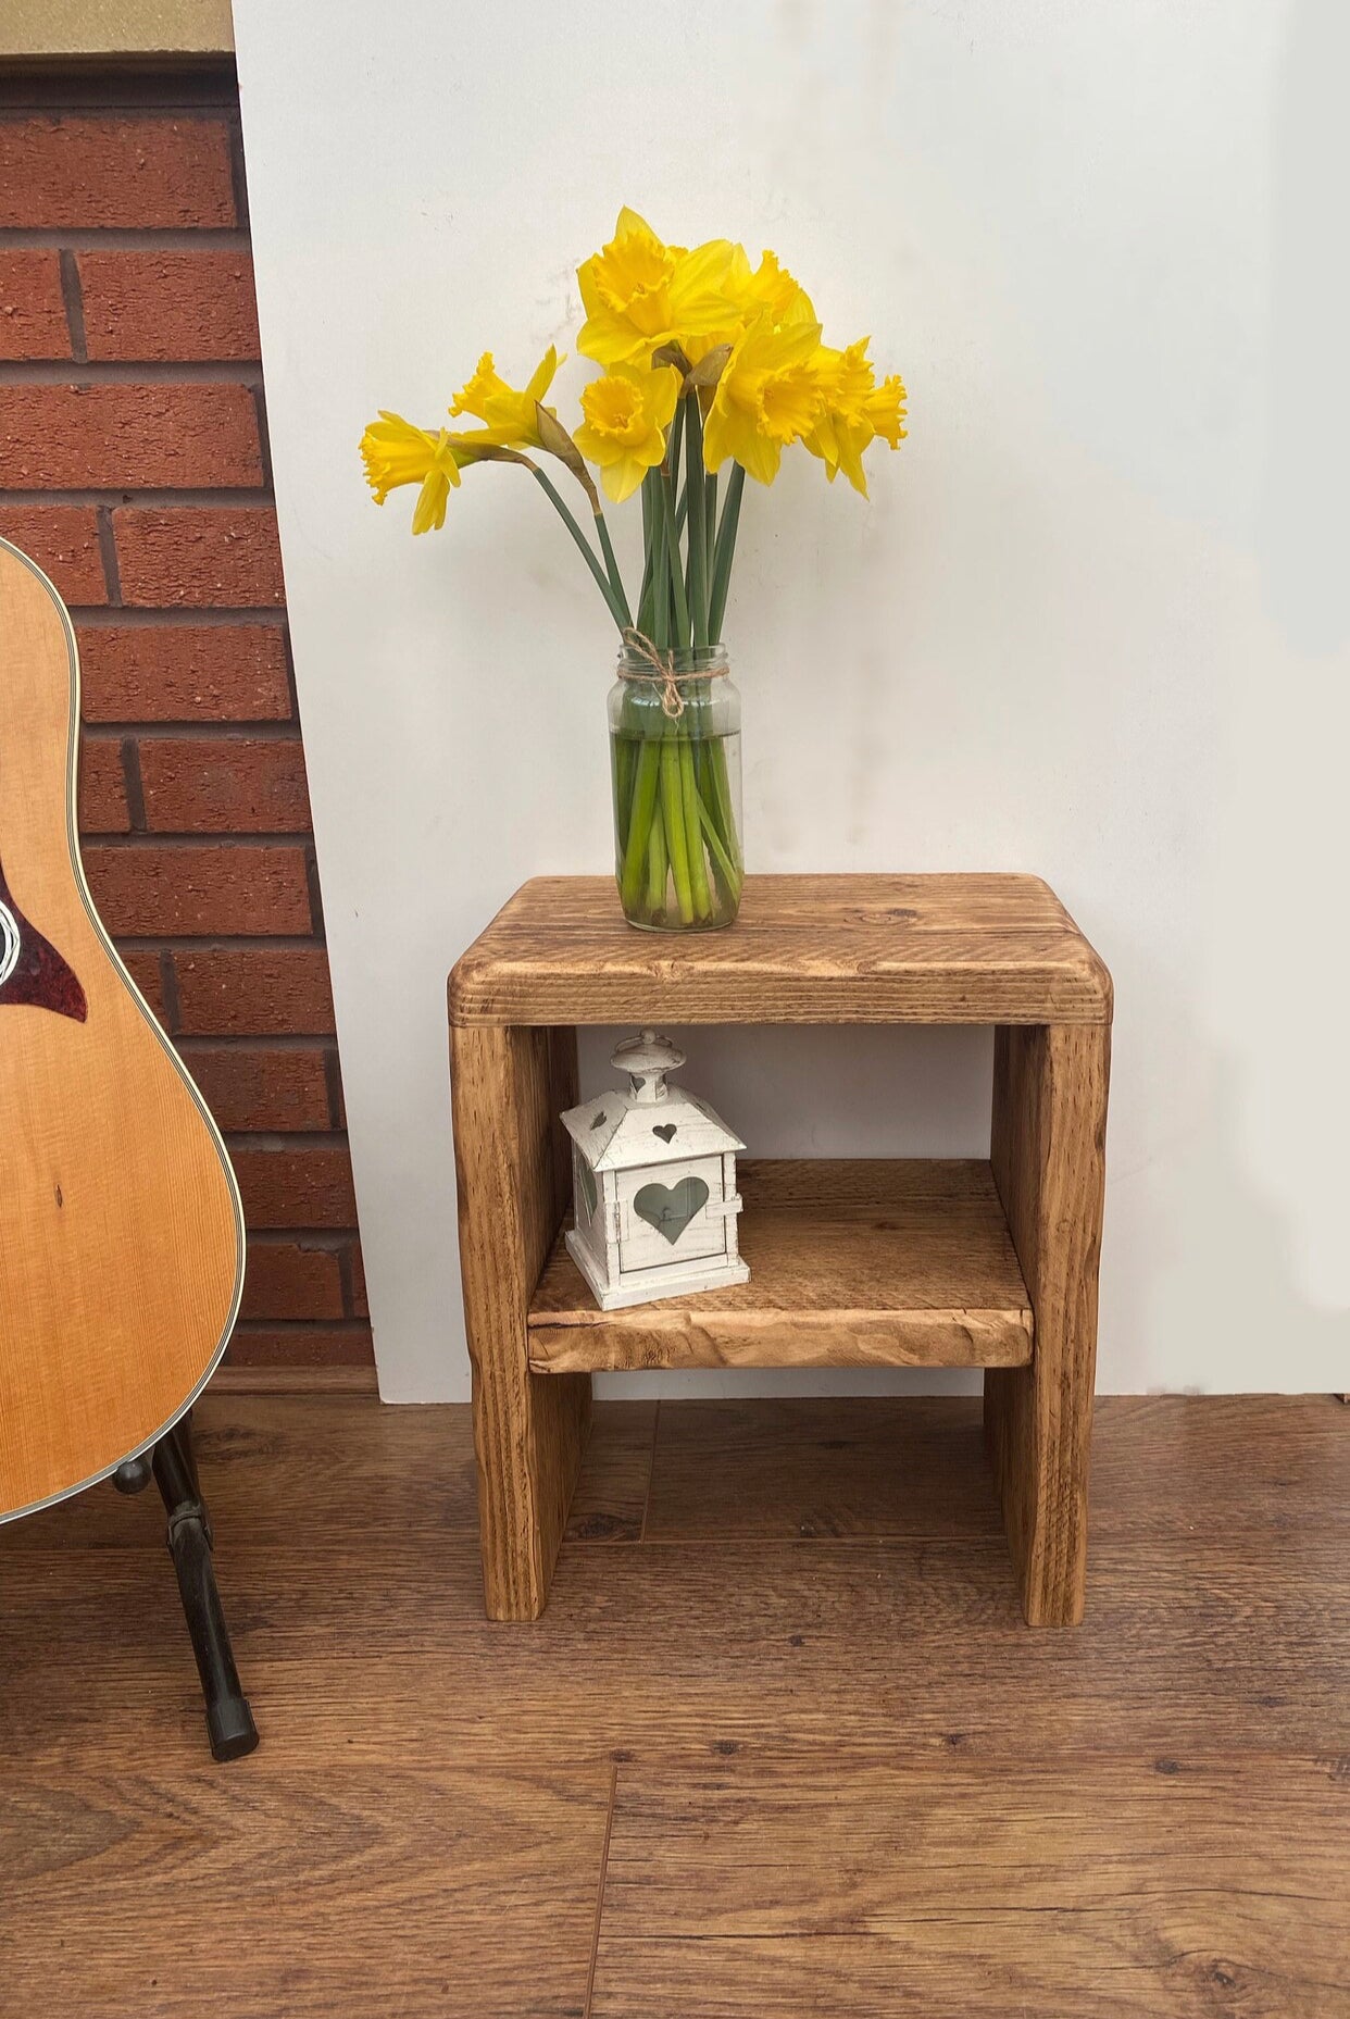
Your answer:
[[[684,1052],[644,1030],[611,1060],[628,1090],[569,1108],[575,1226],[567,1250],[601,1310],[749,1282],[737,1244],[739,1137],[666,1086]]]

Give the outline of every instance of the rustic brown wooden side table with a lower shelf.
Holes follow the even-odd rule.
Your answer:
[[[450,975],[488,1615],[547,1603],[597,1369],[906,1365],[985,1369],[1027,1623],[1078,1623],[1110,1018],[1037,876],[751,876],[688,937],[607,878],[527,882]],[[751,1282],[601,1312],[561,1240],[579,1024],[993,1024],[991,1157],[747,1161]]]

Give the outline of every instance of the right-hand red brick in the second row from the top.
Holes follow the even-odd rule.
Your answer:
[[[258,357],[248,252],[81,252],[79,277],[93,359]]]

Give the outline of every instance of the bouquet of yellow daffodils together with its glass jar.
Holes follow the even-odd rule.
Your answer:
[[[765,252],[753,267],[726,238],[668,246],[634,210],[577,273],[577,349],[601,365],[571,432],[547,406],[559,367],[549,345],[523,390],[492,353],[450,402],[472,428],[416,428],[381,414],[361,438],[383,505],[418,485],[414,533],[442,527],[450,491],[478,462],[531,472],[567,527],[620,632],[609,697],[615,874],[634,925],[706,929],[737,915],[743,882],[739,703],[722,618],[747,474],[771,485],[801,442],[829,483],[843,470],[866,497],[864,454],[904,438],[904,386],[880,386],[868,339],[821,341],[811,299]],[[541,460],[581,487],[591,533]],[[722,468],[730,464],[718,499]],[[591,474],[599,472],[599,487]],[[642,495],[644,567],[630,598],[601,505]]]

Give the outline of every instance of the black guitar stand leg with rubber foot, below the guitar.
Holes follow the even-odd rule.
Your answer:
[[[192,1452],[192,1411],[159,1438],[151,1452],[127,1460],[113,1474],[121,1494],[139,1494],[149,1480],[163,1494],[170,1516],[170,1555],[178,1573],[178,1595],[184,1601],[192,1652],[198,1660],[202,1696],[206,1698],[206,1730],[212,1757],[236,1761],[252,1752],[258,1726],[252,1722],[248,1698],[240,1690],[230,1629],[226,1627],[212,1569],[212,1524],[198,1484],[198,1464]]]

